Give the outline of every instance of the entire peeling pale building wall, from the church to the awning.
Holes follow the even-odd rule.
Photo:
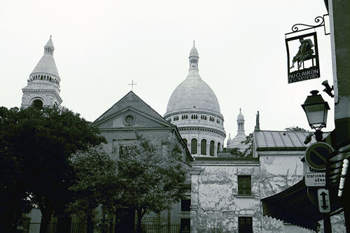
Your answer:
[[[311,232],[262,216],[260,202],[302,179],[304,151],[258,151],[256,155],[250,160],[196,157],[191,171],[191,232],[238,232],[238,218],[245,216],[252,218],[255,233]],[[251,197],[238,195],[239,175],[251,176]]]

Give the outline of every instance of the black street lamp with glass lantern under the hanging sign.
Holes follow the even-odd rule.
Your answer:
[[[307,115],[307,121],[311,129],[316,129],[316,141],[322,141],[321,129],[326,125],[327,113],[330,107],[321,94],[318,94],[318,90],[313,90],[310,93],[311,95],[307,96],[304,104],[302,104],[302,109]]]

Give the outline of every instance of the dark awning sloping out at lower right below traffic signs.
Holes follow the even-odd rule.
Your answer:
[[[317,203],[310,201],[307,192],[307,186],[302,180],[276,195],[261,199],[264,216],[316,231],[317,222],[323,219],[323,213],[318,211]],[[317,188],[310,188],[309,192],[312,197]],[[332,197],[332,190],[330,192]],[[339,209],[339,204],[331,202],[330,206],[331,213]]]

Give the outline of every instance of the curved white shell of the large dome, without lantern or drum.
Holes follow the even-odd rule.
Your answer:
[[[169,99],[166,115],[178,111],[208,111],[221,114],[216,95],[195,70],[190,71]]]

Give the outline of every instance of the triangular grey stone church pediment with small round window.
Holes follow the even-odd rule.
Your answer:
[[[134,92],[129,92],[102,114],[92,125],[104,128],[175,127],[148,106]]]

